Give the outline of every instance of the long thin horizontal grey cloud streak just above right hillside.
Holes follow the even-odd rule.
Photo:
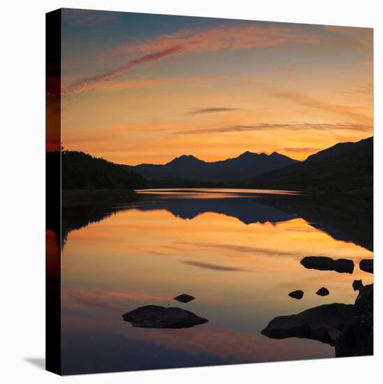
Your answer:
[[[303,131],[303,130],[317,130],[317,131],[361,131],[369,132],[370,125],[356,124],[356,123],[296,123],[296,124],[239,124],[232,126],[221,126],[215,128],[197,128],[185,131],[174,132],[174,135],[190,135],[195,133],[230,133],[230,132],[243,132],[243,131],[272,131],[278,129],[285,129],[289,131]]]

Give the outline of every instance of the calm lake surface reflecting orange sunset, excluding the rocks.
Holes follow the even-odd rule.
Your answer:
[[[276,316],[353,304],[354,279],[373,282],[359,269],[373,256],[370,226],[352,200],[285,191],[145,190],[128,204],[63,208],[63,373],[334,357],[319,341],[260,332]],[[354,260],[354,273],[306,269],[305,256]],[[322,286],[330,295],[315,295]],[[297,289],[301,300],[287,295]],[[195,300],[174,301],[181,293]],[[172,330],[122,320],[148,304],[209,322]]]

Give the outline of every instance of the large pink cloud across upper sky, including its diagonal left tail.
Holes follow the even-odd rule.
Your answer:
[[[93,18],[96,17],[93,16]],[[102,20],[101,16],[98,17],[99,19],[93,19],[93,22]],[[158,38],[147,39],[144,43],[117,47],[114,53],[126,54],[128,52],[143,55],[110,71],[77,80],[63,89],[63,96],[76,94],[97,82],[113,80],[121,73],[140,64],[175,54],[276,47],[285,43],[316,43],[317,41],[317,36],[302,34],[300,29],[292,27],[223,26],[202,30],[185,29],[174,34],[163,34]]]

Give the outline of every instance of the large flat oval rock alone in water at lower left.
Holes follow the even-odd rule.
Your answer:
[[[125,313],[122,318],[133,327],[142,328],[190,328],[209,321],[185,309],[157,305],[144,305],[133,309]]]

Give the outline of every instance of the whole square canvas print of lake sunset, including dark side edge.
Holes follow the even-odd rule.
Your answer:
[[[47,369],[373,354],[373,29],[47,14]]]

